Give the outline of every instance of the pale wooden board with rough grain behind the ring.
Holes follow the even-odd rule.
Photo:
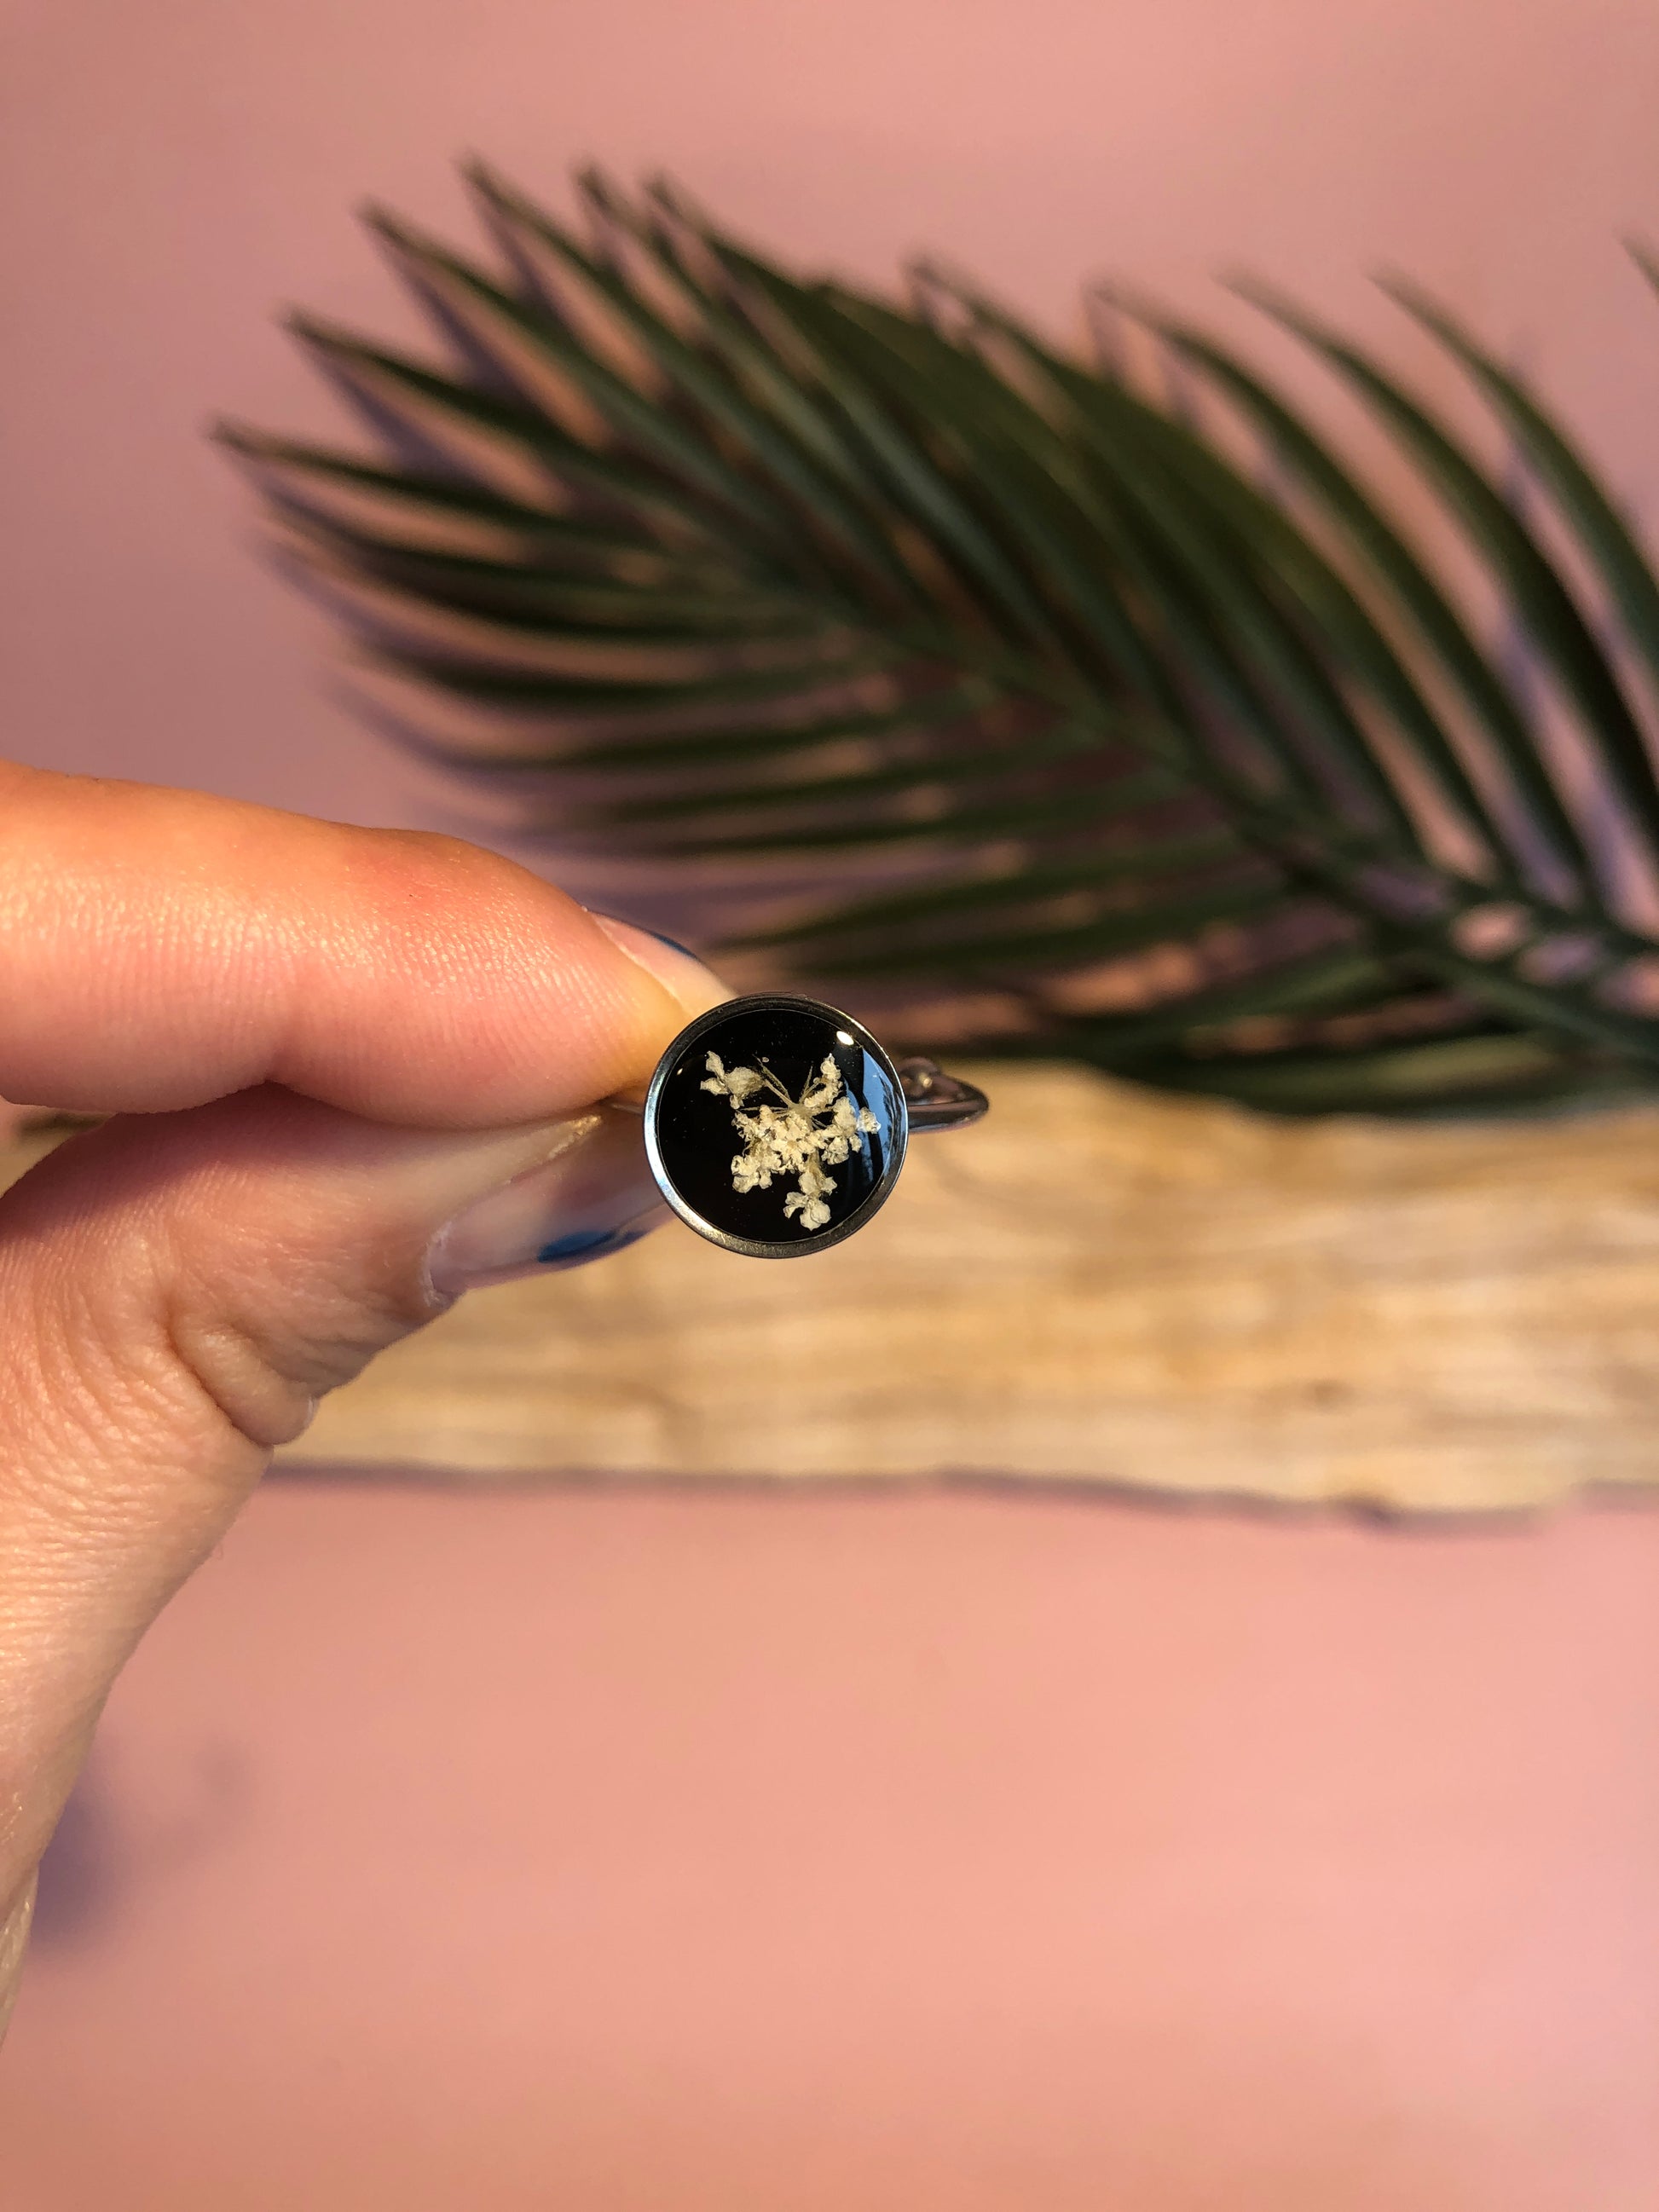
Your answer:
[[[779,1265],[675,1223],[473,1294],[283,1458],[1416,1511],[1659,1478],[1659,1113],[1290,1124],[980,1075],[991,1117],[918,1141],[845,1245]]]

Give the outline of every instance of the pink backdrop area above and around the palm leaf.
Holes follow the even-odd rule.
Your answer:
[[[11,0],[0,232],[4,750],[358,818],[416,792],[321,684],[201,427],[332,411],[272,330],[411,327],[347,219],[469,232],[465,148],[557,192],[666,164],[783,254],[929,246],[1073,325],[1113,270],[1254,330],[1248,263],[1422,363],[1413,270],[1648,507],[1652,0]],[[1270,358],[1283,358],[1267,347]]]

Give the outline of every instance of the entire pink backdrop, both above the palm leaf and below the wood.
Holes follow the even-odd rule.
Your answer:
[[[451,150],[1064,325],[1398,261],[1659,500],[1650,0],[11,0],[4,745],[438,807],[199,427]],[[1400,345],[1407,361],[1420,358]],[[1652,2212],[1659,1520],[283,1486],[122,1686],[11,2212]]]

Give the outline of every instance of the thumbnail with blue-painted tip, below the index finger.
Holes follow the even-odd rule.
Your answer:
[[[597,1106],[571,1119],[566,1133],[540,1166],[476,1199],[438,1232],[427,1254],[436,1292],[449,1298],[522,1274],[584,1267],[668,1221],[637,1113]]]

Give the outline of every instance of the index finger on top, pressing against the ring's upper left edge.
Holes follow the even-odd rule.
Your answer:
[[[641,1082],[686,1020],[500,854],[11,763],[0,973],[0,1095],[80,1113],[279,1082],[491,1128]]]

